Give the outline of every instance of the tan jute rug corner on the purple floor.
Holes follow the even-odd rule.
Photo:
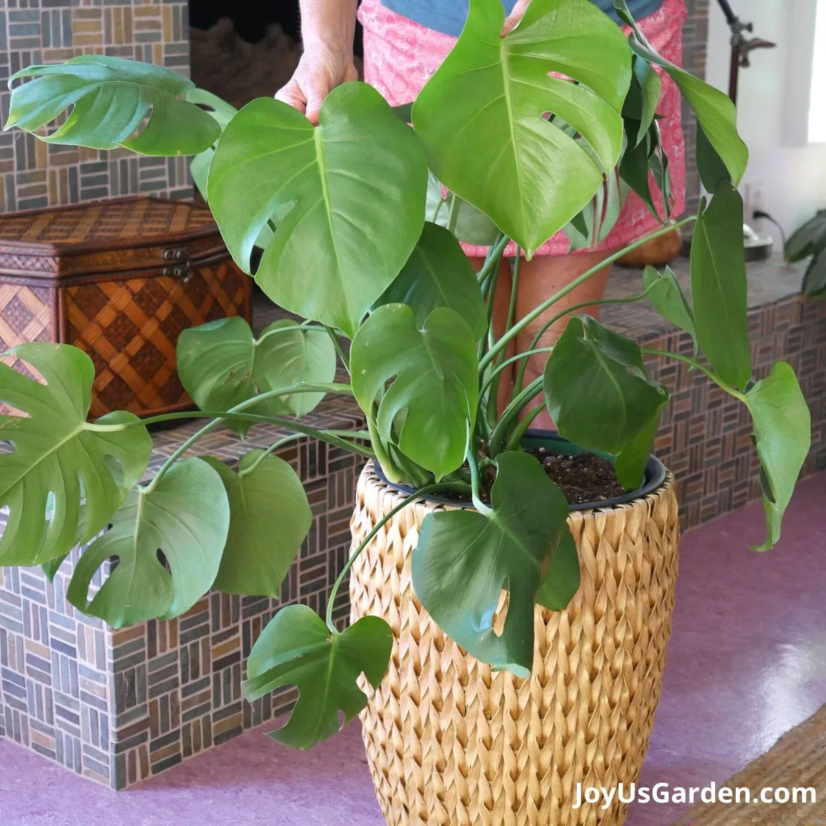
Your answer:
[[[745,794],[739,803],[722,803],[718,798],[715,803],[695,806],[673,826],[826,826],[826,705],[718,789],[724,786],[748,789],[749,801]],[[789,802],[760,800],[768,787],[788,790]],[[798,791],[798,801],[793,802],[795,789],[805,788],[815,790],[816,800],[812,802],[809,792],[804,802]],[[779,796],[785,795],[781,791]]]

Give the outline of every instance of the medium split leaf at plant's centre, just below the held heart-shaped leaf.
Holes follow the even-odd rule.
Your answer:
[[[381,397],[376,423],[382,439],[437,476],[463,463],[479,377],[476,339],[462,316],[437,307],[419,330],[409,306],[379,307],[353,340],[350,372],[368,415]]]

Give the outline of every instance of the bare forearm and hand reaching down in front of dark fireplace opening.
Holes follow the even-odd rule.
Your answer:
[[[353,63],[356,0],[301,0],[304,54],[275,97],[318,123],[321,102],[336,86],[358,78]]]

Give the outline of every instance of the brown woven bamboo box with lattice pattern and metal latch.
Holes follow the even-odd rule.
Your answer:
[[[249,278],[204,207],[131,197],[0,216],[0,352],[27,341],[85,350],[93,417],[192,406],[178,335],[236,315],[250,320]]]

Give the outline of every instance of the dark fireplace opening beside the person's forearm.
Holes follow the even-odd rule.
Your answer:
[[[192,80],[235,107],[273,95],[301,56],[298,0],[190,0],[189,25]]]

